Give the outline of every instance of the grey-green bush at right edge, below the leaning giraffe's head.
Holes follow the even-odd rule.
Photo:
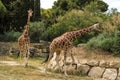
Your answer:
[[[86,45],[88,49],[102,49],[112,53],[120,53],[120,31],[103,32],[92,38]]]

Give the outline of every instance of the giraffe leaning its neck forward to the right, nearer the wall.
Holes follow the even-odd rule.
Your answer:
[[[80,29],[80,30],[66,32],[63,35],[53,39],[53,41],[51,42],[51,44],[49,46],[50,53],[45,60],[46,65],[48,65],[48,63],[50,62],[53,55],[56,54],[56,59],[55,60],[56,60],[57,65],[59,66],[59,56],[60,56],[60,52],[63,50],[64,51],[63,64],[64,64],[64,67],[65,67],[64,68],[64,74],[67,76],[67,72],[66,72],[66,57],[67,56],[66,56],[66,54],[74,47],[73,46],[73,41],[78,36],[82,36],[85,33],[88,33],[92,30],[100,31],[99,23],[94,24],[92,26],[89,26],[87,28]],[[73,57],[73,53],[72,52],[69,52],[69,53],[70,53],[71,58],[72,58],[72,63],[74,63],[75,59]]]

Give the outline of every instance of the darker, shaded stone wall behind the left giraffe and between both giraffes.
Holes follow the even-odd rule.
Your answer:
[[[41,40],[39,43],[31,43],[30,57],[46,57],[49,53],[50,42]],[[18,46],[18,45],[17,45]],[[19,56],[19,49],[15,46],[9,47],[9,54],[12,56]]]

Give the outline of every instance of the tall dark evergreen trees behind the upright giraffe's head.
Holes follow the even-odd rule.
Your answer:
[[[0,28],[4,31],[22,31],[27,22],[27,11],[32,9],[32,21],[40,21],[40,0],[0,0],[4,5],[3,10],[7,13],[3,18],[0,17]]]

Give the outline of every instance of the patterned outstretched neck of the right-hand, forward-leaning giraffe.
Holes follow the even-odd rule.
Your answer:
[[[90,26],[80,30],[66,32],[65,34],[63,34],[63,36],[65,36],[70,42],[73,42],[73,40],[76,39],[77,37],[82,36],[92,30],[94,30],[94,27]]]

